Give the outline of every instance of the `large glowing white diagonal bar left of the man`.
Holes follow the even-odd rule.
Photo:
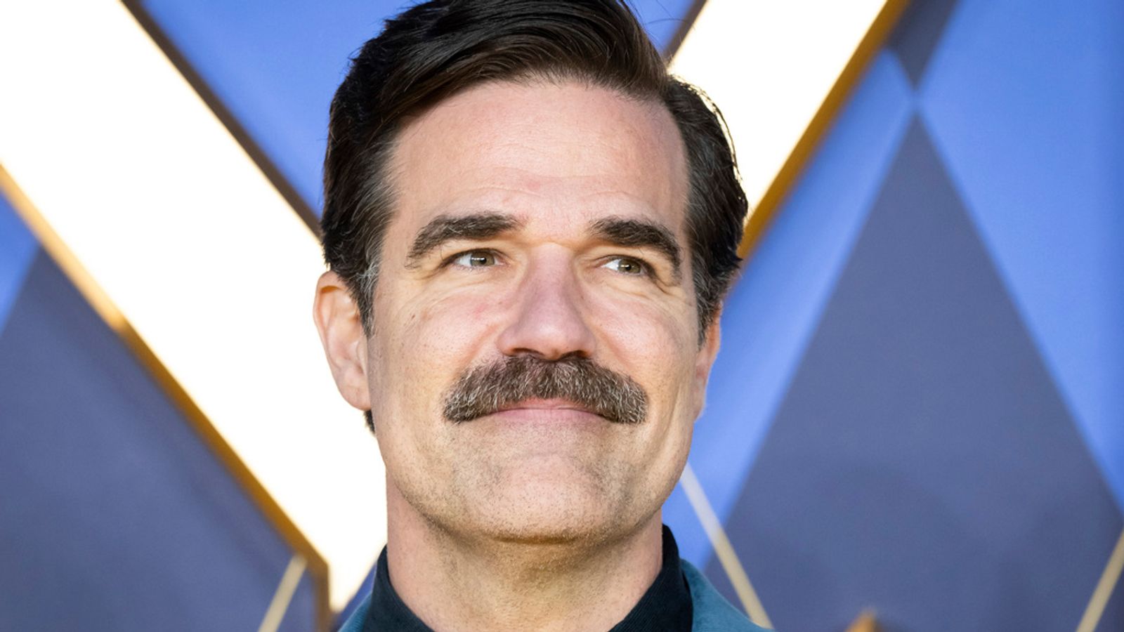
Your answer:
[[[382,461],[311,320],[315,237],[126,8],[0,4],[0,162],[325,557],[386,541]]]

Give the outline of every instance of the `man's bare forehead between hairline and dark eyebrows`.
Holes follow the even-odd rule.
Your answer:
[[[393,224],[510,213],[525,223],[586,225],[643,216],[680,232],[687,169],[661,103],[580,83],[493,82],[413,119],[392,163]]]

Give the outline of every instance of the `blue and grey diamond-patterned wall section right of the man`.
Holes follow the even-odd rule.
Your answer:
[[[1081,619],[1124,527],[1122,13],[916,2],[738,281],[691,463],[777,629]]]

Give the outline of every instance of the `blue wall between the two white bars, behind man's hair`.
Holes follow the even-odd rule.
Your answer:
[[[290,204],[320,213],[320,164],[328,106],[347,60],[382,20],[414,2],[334,0],[285,2],[129,0],[147,16],[187,64],[196,85],[229,112],[244,144],[282,183]],[[692,0],[641,0],[632,4],[653,40],[665,47],[688,17]],[[689,22],[688,22],[689,24]],[[248,141],[248,143],[247,143]]]

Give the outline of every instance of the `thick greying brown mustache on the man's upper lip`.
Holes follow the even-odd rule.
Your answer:
[[[445,395],[445,418],[470,422],[527,399],[565,399],[617,424],[640,424],[647,395],[628,376],[588,358],[513,355],[465,371]]]

